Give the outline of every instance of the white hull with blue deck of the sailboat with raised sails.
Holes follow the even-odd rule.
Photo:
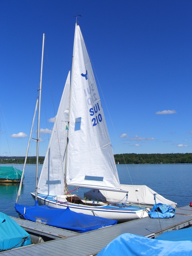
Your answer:
[[[31,193],[33,198],[35,198],[35,194]],[[96,204],[97,202],[95,202]],[[101,203],[101,202],[100,202]],[[148,216],[149,208],[139,208],[135,206],[108,206],[108,204],[101,204],[99,206],[88,206],[83,204],[75,204],[75,203],[59,203],[53,200],[50,196],[38,196],[38,204],[39,205],[48,205],[55,208],[66,209],[70,208],[71,211],[75,211],[76,213],[84,213],[88,215],[95,215],[102,218],[107,219],[115,219],[119,223],[125,221],[131,221],[134,219],[140,219]]]

